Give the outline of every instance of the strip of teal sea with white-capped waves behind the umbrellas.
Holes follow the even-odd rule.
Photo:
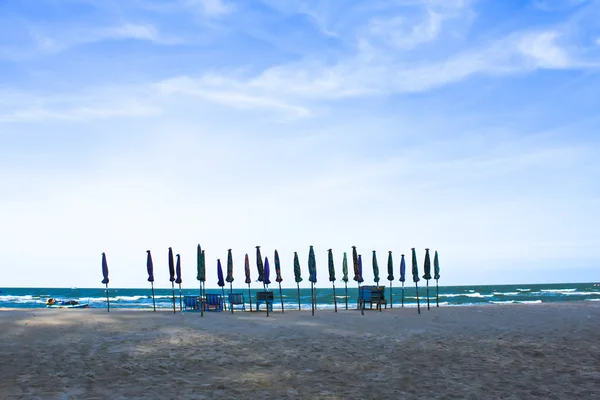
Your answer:
[[[3,288],[0,293],[0,308],[44,308],[48,298],[59,300],[78,300],[80,303],[89,303],[90,307],[106,307],[106,291],[104,288],[79,289],[79,288]],[[255,285],[251,289],[252,304],[255,303],[256,292],[263,288]],[[275,292],[274,309],[281,307],[279,288],[271,285],[269,290]],[[207,293],[221,293],[219,288],[207,289]],[[244,294],[248,302],[248,289],[233,289],[234,293]],[[112,289],[109,288],[111,308],[152,308],[150,288],[143,289]],[[225,289],[225,294],[229,289]],[[199,289],[183,289],[183,295],[198,295]],[[283,289],[283,304],[285,309],[298,309],[297,289]],[[348,308],[356,308],[358,289],[352,282],[348,287]],[[179,290],[175,290],[177,309],[179,309]],[[390,288],[385,292],[388,304],[390,303]],[[392,292],[394,307],[399,307],[402,299],[402,288],[394,286]],[[316,289],[318,308],[333,308],[334,296],[331,287]],[[345,308],[346,292],[344,285],[336,286],[336,299],[338,308]],[[157,308],[172,308],[173,293],[171,289],[155,289]],[[300,289],[300,303],[302,309],[311,308],[310,289]],[[421,305],[426,305],[426,288],[419,286],[419,299]],[[436,302],[436,288],[430,286],[429,299],[432,305]],[[511,303],[550,303],[561,301],[600,301],[600,286],[596,283],[559,283],[536,285],[485,285],[485,286],[440,286],[440,306],[470,306],[484,304],[511,304]],[[414,286],[407,286],[404,290],[404,306],[416,307],[417,298]]]

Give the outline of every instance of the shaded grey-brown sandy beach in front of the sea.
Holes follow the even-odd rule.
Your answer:
[[[0,311],[2,399],[600,398],[600,303]]]

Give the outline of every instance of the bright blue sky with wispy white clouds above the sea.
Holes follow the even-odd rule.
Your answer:
[[[599,1],[0,2],[0,287],[600,281],[599,127]]]

